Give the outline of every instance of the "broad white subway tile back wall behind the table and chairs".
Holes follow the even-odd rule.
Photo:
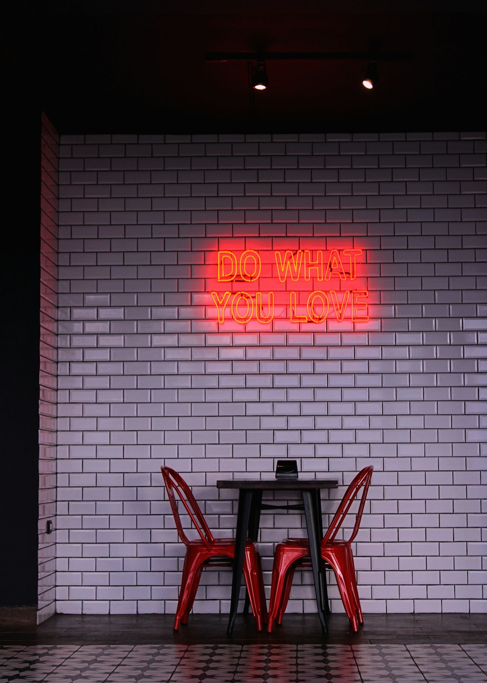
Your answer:
[[[365,613],[486,609],[486,153],[486,133],[61,137],[58,611],[173,612],[184,547],[161,464],[228,535],[236,492],[217,479],[277,458],[339,479],[325,515],[374,465]],[[326,320],[291,322],[277,291],[273,322],[228,303],[219,323],[219,250],[350,247],[368,322],[358,299],[339,322],[333,297]],[[247,266],[231,292],[255,292]],[[288,533],[300,514],[262,514],[267,590]],[[204,574],[195,611],[227,611],[230,583]],[[307,572],[289,609],[316,609]]]

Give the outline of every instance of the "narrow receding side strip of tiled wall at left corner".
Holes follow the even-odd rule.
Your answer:
[[[41,122],[38,622],[55,613],[59,136]],[[46,533],[48,521],[52,533]]]

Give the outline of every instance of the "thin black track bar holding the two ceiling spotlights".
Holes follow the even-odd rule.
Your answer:
[[[207,52],[205,61],[408,61],[411,52]]]

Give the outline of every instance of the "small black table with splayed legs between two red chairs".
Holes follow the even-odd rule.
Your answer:
[[[303,510],[311,555],[318,616],[324,633],[326,628],[326,583],[320,570],[320,542],[323,536],[320,489],[337,488],[337,479],[219,479],[217,488],[238,488],[238,512],[235,534],[235,559],[232,599],[227,634],[234,630],[238,597],[242,583],[245,541],[257,540],[261,510]],[[264,491],[299,491],[303,505],[268,505],[262,503]]]

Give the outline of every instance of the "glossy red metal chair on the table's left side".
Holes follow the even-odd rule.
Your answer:
[[[176,618],[174,619],[173,626],[173,629],[177,631],[180,624],[188,622],[188,616],[193,607],[203,569],[208,566],[233,566],[235,539],[214,538],[191,492],[191,488],[189,488],[181,475],[170,467],[161,467],[161,472],[163,473],[164,484],[169,496],[169,503],[171,503],[171,510],[174,515],[179,538],[186,546],[178,608],[176,609]],[[193,522],[199,534],[199,539],[189,540],[184,533],[178,501],[189,515],[191,522]],[[248,539],[245,544],[243,571],[257,628],[262,631],[263,624],[267,622],[264,581],[262,579],[262,568],[257,544]]]

